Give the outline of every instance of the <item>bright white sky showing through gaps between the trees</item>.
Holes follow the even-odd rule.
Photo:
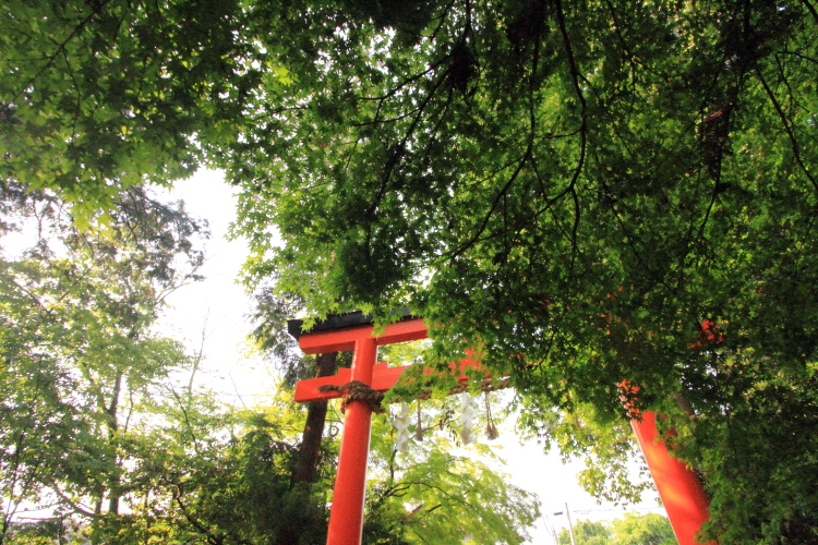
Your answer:
[[[246,253],[245,245],[241,241],[228,242],[225,239],[228,225],[234,217],[232,189],[224,183],[218,172],[201,171],[189,180],[177,182],[172,191],[160,195],[183,199],[192,215],[210,222],[213,233],[206,245],[207,263],[202,269],[206,280],[184,287],[169,298],[171,310],[164,327],[184,339],[194,350],[199,349],[204,330],[205,364],[201,379],[238,404],[251,405],[274,387],[274,379],[265,363],[257,356],[248,355],[249,351],[242,346],[251,328],[245,317],[251,307],[250,299],[236,281]],[[532,531],[530,543],[553,543],[548,526],[553,525],[558,531],[567,523],[564,514],[554,516],[554,512],[565,510],[566,502],[574,521],[611,520],[624,512],[623,507],[598,505],[579,487],[576,473],[584,469],[581,461],[563,465],[556,449],[543,455],[538,445],[519,445],[508,432],[496,443],[503,445],[501,456],[507,460],[504,471],[510,475],[512,482],[540,497],[543,518]],[[655,496],[654,492],[648,492],[643,495],[646,501],[628,509],[665,514],[664,509],[658,507]]]

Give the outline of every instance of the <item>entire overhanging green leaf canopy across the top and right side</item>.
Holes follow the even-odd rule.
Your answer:
[[[469,339],[541,422],[638,385],[712,532],[808,540],[817,25],[809,0],[19,2],[4,175],[82,222],[222,168],[251,286],[409,305],[430,361]]]

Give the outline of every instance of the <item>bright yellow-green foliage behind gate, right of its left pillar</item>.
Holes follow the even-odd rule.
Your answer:
[[[454,441],[426,431],[423,441],[413,441],[408,452],[396,452],[392,432],[386,417],[374,420],[371,464],[375,469],[366,512],[375,520],[364,526],[364,534],[373,540],[364,543],[526,541],[526,529],[540,516],[537,497],[505,482],[505,475],[486,463],[488,447],[478,445],[468,457],[454,455]],[[389,537],[377,541],[377,535]]]

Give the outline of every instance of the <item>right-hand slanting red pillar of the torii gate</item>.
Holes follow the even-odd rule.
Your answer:
[[[642,414],[641,422],[631,420],[639,447],[648,462],[650,474],[659,491],[659,497],[667,511],[678,545],[694,545],[696,532],[708,520],[710,500],[698,475],[681,460],[671,457],[667,447],[658,440],[657,420],[653,411]],[[715,545],[715,542],[708,542]]]

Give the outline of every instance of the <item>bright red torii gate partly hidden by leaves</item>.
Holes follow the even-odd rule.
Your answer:
[[[322,386],[341,386],[354,380],[368,385],[372,390],[386,391],[392,388],[408,366],[389,367],[386,362],[376,363],[377,347],[428,337],[423,318],[413,317],[408,311],[402,314],[402,319],[389,324],[380,332],[371,317],[361,312],[329,317],[309,331],[301,331],[302,320],[289,320],[290,335],[298,339],[299,347],[308,354],[353,351],[351,368],[339,368],[335,376],[299,380],[296,401],[303,403],[339,398],[341,391],[322,389]],[[468,358],[460,362],[460,368],[473,365],[478,363]],[[347,404],[329,510],[327,545],[361,545],[371,424],[372,408],[368,402],[350,401]],[[709,505],[698,475],[671,457],[665,445],[658,440],[655,414],[652,411],[645,412],[640,421],[631,420],[630,425],[676,540],[679,545],[695,545],[698,542],[694,542],[694,536],[708,519]]]

